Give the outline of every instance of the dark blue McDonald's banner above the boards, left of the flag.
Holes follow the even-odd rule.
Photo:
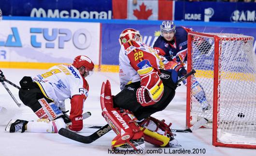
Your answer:
[[[5,16],[112,19],[111,0],[1,0]]]

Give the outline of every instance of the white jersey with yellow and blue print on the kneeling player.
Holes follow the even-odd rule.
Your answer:
[[[88,96],[89,86],[85,78],[72,65],[60,64],[47,72],[32,77],[44,96],[52,99],[57,107],[65,108],[64,100],[74,95]]]

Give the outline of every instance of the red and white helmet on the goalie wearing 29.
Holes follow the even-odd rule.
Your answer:
[[[129,40],[142,42],[142,36],[139,31],[128,28],[122,31],[122,33],[120,34],[119,43],[120,45],[122,45]]]

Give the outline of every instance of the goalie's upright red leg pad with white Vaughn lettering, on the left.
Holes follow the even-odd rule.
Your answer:
[[[137,140],[143,137],[137,120],[131,112],[125,109],[113,108],[113,97],[111,95],[111,87],[109,81],[102,84],[100,104],[102,116],[111,126],[117,136],[112,141],[112,148],[123,144],[130,144],[134,149],[136,147],[131,144],[130,140]]]

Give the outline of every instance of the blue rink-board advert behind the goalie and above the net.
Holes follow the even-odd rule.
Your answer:
[[[179,25],[176,25],[179,26]],[[229,28],[216,26],[190,26],[197,32],[205,33],[234,33],[253,36],[256,38],[255,28]],[[102,64],[118,65],[118,55],[120,50],[119,35],[124,29],[134,28],[140,31],[143,42],[149,46],[154,45],[158,36],[160,36],[159,25],[143,25],[143,24],[102,24]],[[256,41],[255,41],[256,42]],[[254,43],[254,51],[256,44]]]

